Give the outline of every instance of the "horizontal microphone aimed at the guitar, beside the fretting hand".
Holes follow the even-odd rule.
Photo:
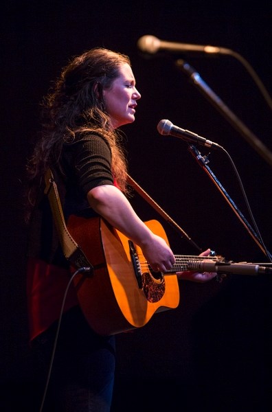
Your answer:
[[[271,275],[272,268],[253,263],[228,263],[204,260],[190,260],[188,271],[232,273],[233,275]]]

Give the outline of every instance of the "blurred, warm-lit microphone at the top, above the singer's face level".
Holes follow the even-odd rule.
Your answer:
[[[191,45],[188,43],[174,43],[171,41],[159,40],[155,36],[142,36],[137,41],[137,46],[141,52],[155,54],[160,50],[166,52],[195,52],[207,54],[228,54],[229,50],[223,47],[214,47],[209,45]]]

